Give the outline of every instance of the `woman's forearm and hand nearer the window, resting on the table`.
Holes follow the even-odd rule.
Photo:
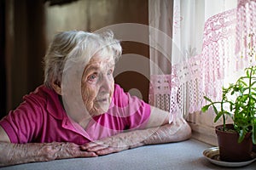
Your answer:
[[[162,144],[183,141],[191,136],[189,124],[182,118],[176,118],[171,124],[119,133],[106,139],[81,145],[81,150],[95,152],[102,156],[122,150],[128,150],[145,144]]]

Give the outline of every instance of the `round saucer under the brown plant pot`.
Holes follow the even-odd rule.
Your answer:
[[[256,161],[256,153],[252,152],[252,159],[249,161],[239,161],[239,162],[230,162],[230,161],[221,161],[219,159],[219,150],[218,147],[208,148],[203,151],[203,156],[207,158],[208,161],[222,167],[243,167],[247,166],[253,161]]]

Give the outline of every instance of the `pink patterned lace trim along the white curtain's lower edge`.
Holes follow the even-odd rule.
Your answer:
[[[255,1],[241,0],[237,10],[207,20],[201,54],[173,65],[172,75],[151,75],[149,103],[172,113],[187,114],[201,111],[204,95],[220,99],[224,77],[248,63],[245,47],[255,39],[246,36],[256,27]],[[238,53],[246,58],[236,57]]]

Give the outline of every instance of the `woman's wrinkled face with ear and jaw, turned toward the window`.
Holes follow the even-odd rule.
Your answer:
[[[92,116],[99,116],[108,111],[113,98],[114,64],[112,56],[102,57],[96,54],[85,68],[80,64],[73,66],[73,69],[65,74],[66,79],[71,81],[64,82],[64,88],[55,89],[55,92],[59,92],[58,94],[65,100],[67,115],[81,127],[85,128]],[[81,75],[77,74],[80,67],[84,68]]]

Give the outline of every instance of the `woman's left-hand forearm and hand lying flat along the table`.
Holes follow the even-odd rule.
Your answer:
[[[80,150],[77,144],[58,142],[28,144],[0,142],[0,153],[0,167],[33,161],[96,156],[94,152]]]

